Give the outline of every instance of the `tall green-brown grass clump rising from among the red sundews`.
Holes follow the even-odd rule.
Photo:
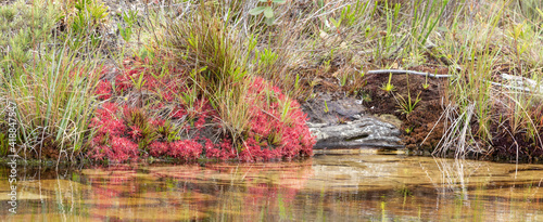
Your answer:
[[[160,36],[162,54],[172,54],[191,78],[190,103],[197,97],[209,97],[219,112],[223,128],[235,141],[249,130],[249,104],[244,103],[249,55],[254,40],[244,39],[230,29],[206,4],[180,19],[165,19],[165,34]],[[230,17],[227,17],[230,18]],[[245,48],[245,45],[249,47]]]

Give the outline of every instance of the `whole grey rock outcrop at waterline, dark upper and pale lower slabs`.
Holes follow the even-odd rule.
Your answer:
[[[315,149],[403,148],[397,118],[374,117],[361,100],[339,93],[319,93],[302,109],[310,117],[307,126],[317,136]]]

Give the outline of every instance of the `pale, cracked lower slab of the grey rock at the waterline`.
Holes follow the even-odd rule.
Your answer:
[[[391,123],[374,117],[364,117],[344,125],[310,123],[310,130],[317,136],[315,149],[380,147],[403,148],[400,130]]]

